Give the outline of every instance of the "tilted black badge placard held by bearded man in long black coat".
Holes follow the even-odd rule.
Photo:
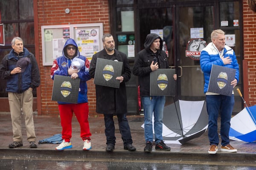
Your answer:
[[[120,80],[116,80],[116,77],[121,76],[122,65],[123,62],[97,58],[93,83],[96,85],[119,88]]]

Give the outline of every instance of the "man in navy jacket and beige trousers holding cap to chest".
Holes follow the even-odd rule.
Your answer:
[[[9,147],[23,146],[20,120],[23,113],[29,147],[36,148],[32,91],[40,85],[38,64],[35,56],[23,47],[20,37],[13,38],[12,48],[0,65],[1,78],[7,79],[6,91],[12,117],[13,142]]]

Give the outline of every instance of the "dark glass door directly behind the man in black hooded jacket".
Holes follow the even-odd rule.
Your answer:
[[[163,51],[168,55],[168,62],[170,68],[176,68],[174,55],[174,23],[175,23],[175,8],[173,6],[141,8],[139,10],[139,25],[140,32],[137,44],[137,51],[144,48],[144,42],[147,34],[156,33],[163,39]],[[166,96],[166,105],[174,101],[173,96]]]

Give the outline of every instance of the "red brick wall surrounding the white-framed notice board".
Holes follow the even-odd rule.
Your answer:
[[[58,104],[51,100],[51,66],[43,66],[41,26],[103,23],[104,33],[110,33],[108,0],[38,0],[39,58],[41,72],[41,114],[59,114]],[[65,9],[70,13],[66,14]],[[96,114],[96,94],[93,80],[87,82],[90,115]]]

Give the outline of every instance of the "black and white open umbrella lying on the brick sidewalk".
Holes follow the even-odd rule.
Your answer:
[[[154,122],[154,117],[152,119]],[[177,100],[164,107],[163,140],[167,144],[184,144],[204,134],[207,127],[208,114],[204,101]]]

